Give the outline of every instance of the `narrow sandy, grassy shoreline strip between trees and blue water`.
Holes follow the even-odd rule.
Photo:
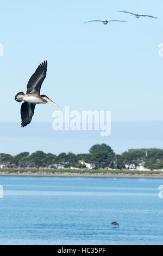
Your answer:
[[[0,171],[0,176],[35,176],[35,177],[120,177],[120,178],[163,178],[163,172],[160,173],[154,173],[152,172],[151,174],[146,174],[145,171],[143,173],[141,172],[140,174],[135,174],[130,171],[130,173],[111,173],[111,172],[97,172],[97,173],[89,173],[89,172],[46,172],[46,171],[39,171],[39,172],[31,172],[31,171],[23,171],[23,172],[8,172],[8,171]]]

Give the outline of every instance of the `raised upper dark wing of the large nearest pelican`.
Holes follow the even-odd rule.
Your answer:
[[[40,88],[43,80],[46,78],[47,61],[42,62],[36,69],[35,73],[31,76],[27,85],[27,94],[37,93],[40,94]]]

